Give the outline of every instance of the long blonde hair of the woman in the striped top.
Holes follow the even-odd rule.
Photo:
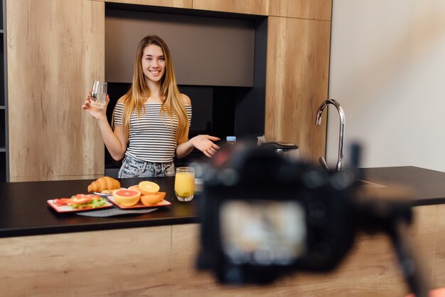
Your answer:
[[[176,130],[176,141],[181,143],[187,140],[188,137],[188,117],[186,107],[179,93],[178,85],[176,84],[176,77],[173,71],[173,63],[171,61],[170,51],[168,46],[159,36],[150,35],[144,37],[136,50],[136,57],[134,58],[134,72],[133,83],[129,91],[124,95],[124,113],[122,115],[122,129],[125,133],[129,132],[130,117],[133,110],[137,110],[138,120],[141,114],[144,113],[144,101],[150,96],[150,89],[145,83],[144,71],[142,69],[142,55],[144,48],[151,44],[159,46],[163,51],[163,56],[166,63],[166,71],[161,78],[161,95],[166,100],[162,103],[161,114],[167,114],[170,118],[171,128],[173,129],[173,116],[178,120],[178,128]],[[161,117],[162,119],[163,117]],[[114,120],[113,120],[114,122]]]

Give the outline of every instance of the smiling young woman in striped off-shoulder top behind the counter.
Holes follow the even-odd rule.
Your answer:
[[[160,177],[175,174],[173,157],[185,157],[196,147],[207,157],[220,148],[218,137],[198,135],[188,140],[191,100],[179,93],[170,51],[158,36],[141,40],[134,60],[132,88],[117,101],[110,127],[105,108],[82,108],[97,120],[105,146],[121,160],[118,177]]]

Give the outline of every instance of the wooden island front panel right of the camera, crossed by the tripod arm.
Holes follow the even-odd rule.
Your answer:
[[[436,205],[414,207],[410,234],[430,281]],[[394,248],[385,234],[362,234],[336,273],[317,278],[317,296],[394,297],[409,293]]]

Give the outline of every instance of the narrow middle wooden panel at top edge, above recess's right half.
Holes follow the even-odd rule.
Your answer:
[[[193,9],[267,16],[269,0],[193,0]]]

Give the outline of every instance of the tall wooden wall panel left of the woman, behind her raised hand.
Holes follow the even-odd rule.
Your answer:
[[[11,180],[104,173],[104,144],[82,111],[104,79],[104,2],[8,1]]]

